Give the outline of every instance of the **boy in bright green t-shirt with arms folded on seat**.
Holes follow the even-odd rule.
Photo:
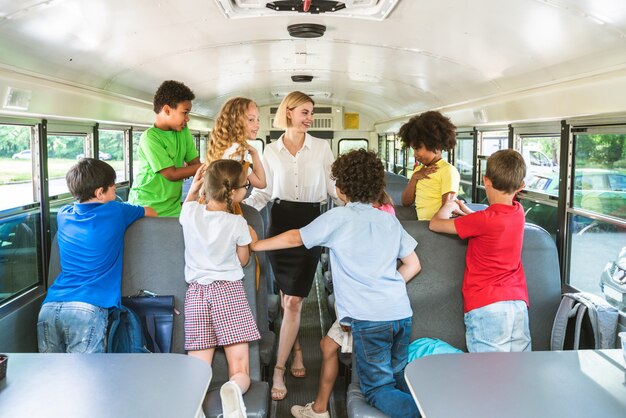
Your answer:
[[[200,167],[187,128],[193,92],[178,81],[164,81],[154,95],[156,120],[139,140],[139,167],[128,201],[152,207],[159,216],[180,215],[183,180]]]

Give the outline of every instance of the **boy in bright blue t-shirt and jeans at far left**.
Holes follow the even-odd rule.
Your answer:
[[[149,207],[115,200],[115,170],[83,158],[68,171],[78,200],[57,215],[61,273],[48,289],[37,320],[41,353],[101,353],[109,308],[121,303],[124,232]]]

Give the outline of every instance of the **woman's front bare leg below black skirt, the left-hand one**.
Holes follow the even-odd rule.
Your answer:
[[[298,335],[300,328],[300,312],[302,310],[302,298],[299,296],[282,295],[283,321],[280,325],[278,340],[278,353],[276,354],[276,368],[272,387],[285,389],[285,364]],[[274,400],[282,400],[280,396],[273,396]]]

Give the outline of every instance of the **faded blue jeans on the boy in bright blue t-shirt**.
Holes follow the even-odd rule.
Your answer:
[[[84,302],[48,302],[39,311],[40,353],[104,353],[109,310]]]

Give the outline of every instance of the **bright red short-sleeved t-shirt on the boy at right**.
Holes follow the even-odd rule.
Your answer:
[[[522,266],[524,222],[519,202],[491,205],[454,220],[459,237],[469,238],[463,278],[465,312],[508,300],[528,305]]]

